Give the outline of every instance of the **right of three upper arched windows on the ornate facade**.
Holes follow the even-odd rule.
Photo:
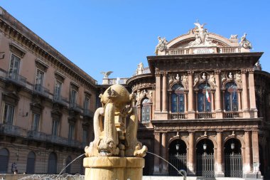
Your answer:
[[[238,110],[238,98],[237,98],[237,84],[227,83],[225,85],[225,110],[226,111],[237,111]]]

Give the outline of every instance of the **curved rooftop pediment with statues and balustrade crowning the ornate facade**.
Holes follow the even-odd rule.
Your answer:
[[[247,40],[247,33],[242,38],[232,34],[229,38],[210,33],[206,23],[194,23],[195,28],[171,41],[158,36],[156,55],[183,55],[201,53],[244,53],[250,52],[252,44]]]

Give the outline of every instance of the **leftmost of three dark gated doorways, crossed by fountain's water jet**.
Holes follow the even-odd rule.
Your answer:
[[[181,139],[175,139],[169,145],[169,162],[173,164],[178,170],[183,169],[187,171],[187,146]],[[178,171],[173,168],[170,164],[168,165],[169,176],[180,176]]]

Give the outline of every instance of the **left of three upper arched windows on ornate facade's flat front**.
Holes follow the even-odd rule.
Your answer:
[[[171,94],[171,112],[185,111],[185,95],[183,85],[173,85]]]

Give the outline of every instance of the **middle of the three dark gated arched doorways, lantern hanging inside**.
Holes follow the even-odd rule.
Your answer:
[[[196,145],[196,176],[213,177],[214,144],[210,139],[202,139]]]

